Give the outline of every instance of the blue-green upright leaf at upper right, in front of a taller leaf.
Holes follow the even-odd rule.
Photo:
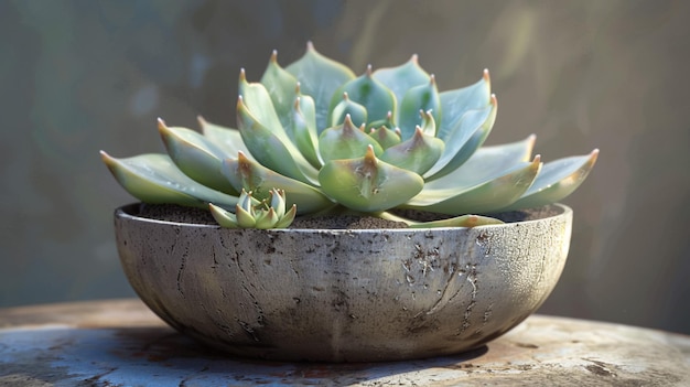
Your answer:
[[[432,181],[442,178],[463,165],[488,137],[496,121],[497,109],[498,101],[492,96],[489,106],[465,112],[445,139],[445,150],[441,159],[424,174],[424,179]]]

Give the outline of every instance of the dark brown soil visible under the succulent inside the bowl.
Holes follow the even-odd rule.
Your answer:
[[[423,213],[418,211],[400,211],[398,215],[416,221],[435,221],[443,218],[439,214]],[[513,211],[490,216],[506,223],[539,219],[558,214],[554,206],[543,206],[525,211]],[[138,216],[179,223],[216,225],[211,213],[205,209],[184,207],[173,204],[141,204]],[[290,228],[322,228],[322,229],[375,229],[375,228],[406,228],[401,222],[386,221],[377,217],[362,217],[355,215],[330,215],[316,217],[298,217]]]

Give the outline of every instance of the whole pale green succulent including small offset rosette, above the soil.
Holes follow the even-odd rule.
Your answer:
[[[200,118],[197,132],[159,120],[168,154],[101,155],[137,198],[211,205],[226,227],[287,227],[294,205],[298,215],[474,226],[499,221],[468,214],[562,200],[586,178],[599,153],[542,164],[539,155],[531,158],[533,135],[482,147],[496,109],[488,71],[473,85],[439,93],[416,55],[356,76],[310,43],[287,67],[273,52],[259,83],[240,71],[237,129]],[[293,208],[285,212],[285,205]],[[398,209],[443,219],[420,223]]]

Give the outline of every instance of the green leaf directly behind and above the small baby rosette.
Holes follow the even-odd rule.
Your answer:
[[[301,214],[311,214],[333,206],[333,202],[320,190],[271,171],[247,159],[242,153],[239,153],[237,159],[226,159],[222,172],[236,190],[251,191],[261,200],[268,198],[272,189],[285,191],[288,204],[297,204]]]

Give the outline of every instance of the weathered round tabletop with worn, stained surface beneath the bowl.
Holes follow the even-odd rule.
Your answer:
[[[396,363],[229,358],[139,300],[0,310],[0,386],[690,386],[690,336],[532,315],[470,353]]]

